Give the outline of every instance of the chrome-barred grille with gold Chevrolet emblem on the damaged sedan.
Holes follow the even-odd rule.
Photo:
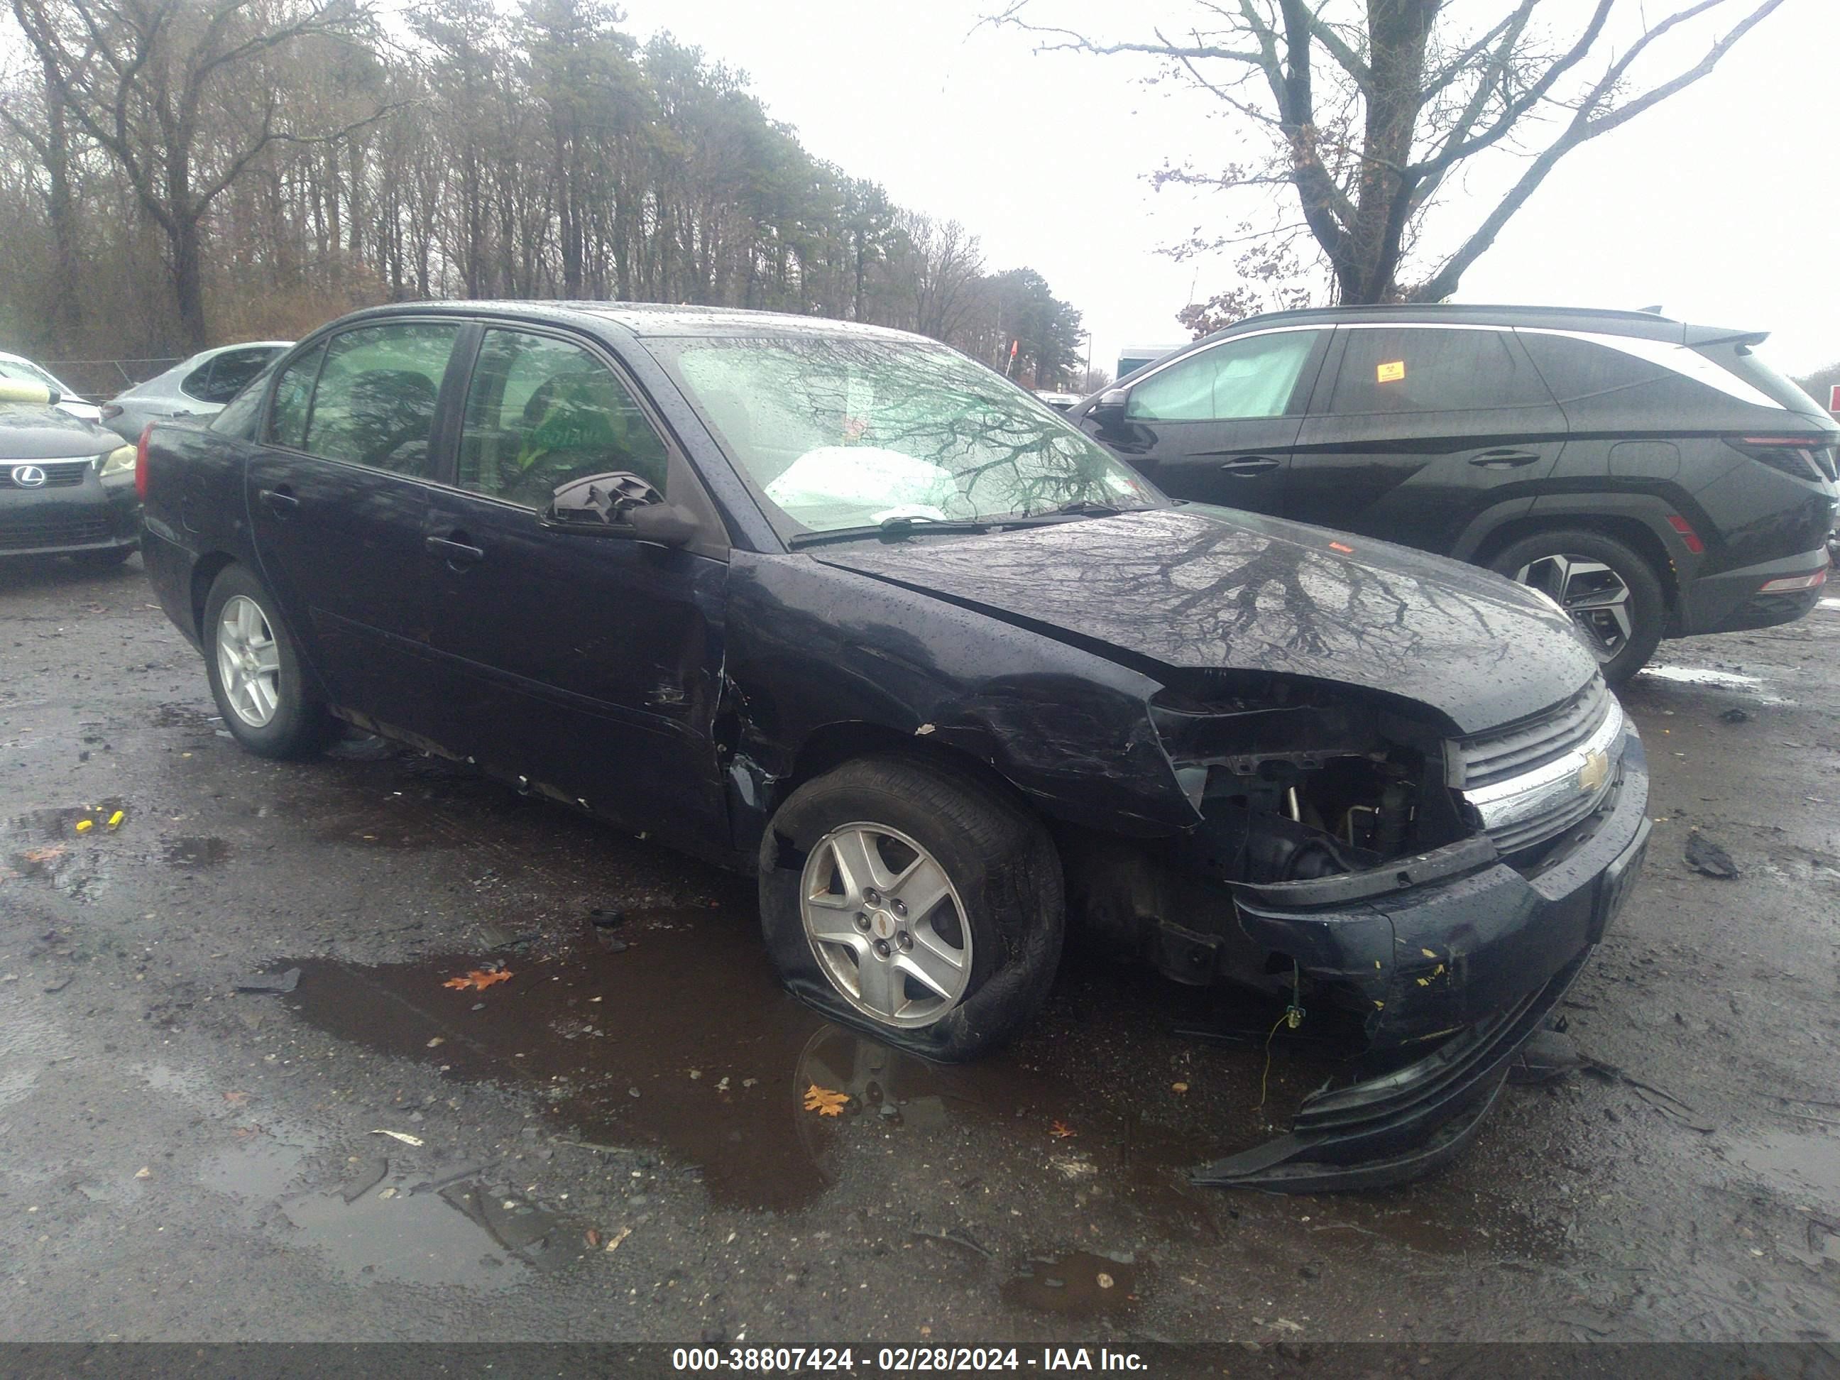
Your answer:
[[[1566,703],[1457,743],[1463,795],[1496,850],[1512,854],[1582,821],[1616,786],[1627,721],[1593,679]]]

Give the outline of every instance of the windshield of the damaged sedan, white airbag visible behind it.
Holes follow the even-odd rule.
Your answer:
[[[1021,388],[946,346],[848,337],[651,346],[793,532],[1161,500]]]

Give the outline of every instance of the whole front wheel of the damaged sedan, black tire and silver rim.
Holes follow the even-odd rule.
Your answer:
[[[868,870],[887,885],[876,900],[850,900],[865,892],[839,867],[854,839],[878,848]],[[940,891],[929,907],[924,896]],[[813,938],[808,914],[837,942]],[[806,782],[773,815],[760,845],[760,924],[780,979],[806,1005],[914,1054],[972,1060],[1034,1019],[1054,984],[1060,856],[1038,819],[970,773],[859,758]]]

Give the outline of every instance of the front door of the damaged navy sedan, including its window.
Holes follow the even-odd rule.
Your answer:
[[[710,738],[727,561],[539,523],[556,488],[626,471],[694,484],[585,344],[491,326],[431,504],[432,646],[467,753],[532,789],[681,843],[725,832]]]

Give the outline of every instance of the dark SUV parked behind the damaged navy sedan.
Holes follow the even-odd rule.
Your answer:
[[[1610,681],[1663,637],[1800,618],[1827,578],[1840,427],[1761,331],[1641,311],[1251,316],[1071,418],[1167,493],[1487,565]]]

